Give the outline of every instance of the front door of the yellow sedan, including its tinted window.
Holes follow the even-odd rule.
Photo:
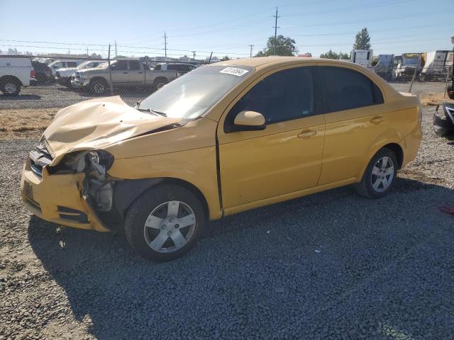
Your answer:
[[[274,198],[317,185],[325,121],[319,115],[314,67],[265,74],[228,108],[218,128],[223,208]],[[229,132],[240,111],[265,116],[260,131]]]

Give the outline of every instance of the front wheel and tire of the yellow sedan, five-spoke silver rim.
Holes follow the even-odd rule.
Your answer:
[[[191,191],[175,185],[156,186],[128,209],[126,239],[144,259],[170,261],[194,246],[205,220],[204,208]]]

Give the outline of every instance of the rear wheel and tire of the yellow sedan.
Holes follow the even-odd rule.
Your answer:
[[[367,165],[355,190],[360,196],[382,198],[394,185],[397,176],[397,157],[386,147],[380,149]]]

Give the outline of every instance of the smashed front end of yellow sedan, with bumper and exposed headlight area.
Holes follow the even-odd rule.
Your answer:
[[[44,139],[30,152],[21,181],[26,207],[61,225],[103,232],[113,229],[105,216],[113,210],[115,181],[107,171],[114,157],[100,149],[66,154],[50,166],[53,159]],[[122,225],[122,218],[113,215]]]

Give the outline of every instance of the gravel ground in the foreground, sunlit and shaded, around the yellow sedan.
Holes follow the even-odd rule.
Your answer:
[[[182,259],[38,220],[19,199],[36,140],[0,142],[0,339],[453,339],[454,145],[428,108],[386,198],[351,188],[212,222]]]

